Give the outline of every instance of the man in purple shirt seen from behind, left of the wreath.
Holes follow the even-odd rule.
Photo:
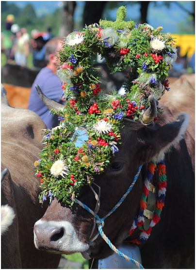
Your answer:
[[[47,66],[42,68],[37,74],[31,89],[28,109],[35,112],[46,124],[48,129],[58,126],[58,116],[50,114],[47,106],[40,100],[36,91],[35,84],[38,84],[42,92],[51,100],[65,103],[62,97],[63,89],[59,77],[56,75],[56,69],[60,64],[58,59],[59,50],[62,50],[62,42],[58,37],[50,39],[46,44],[45,59]]]

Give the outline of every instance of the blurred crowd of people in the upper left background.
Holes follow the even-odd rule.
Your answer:
[[[54,37],[51,28],[46,32],[33,29],[31,34],[27,29],[14,23],[15,17],[9,14],[6,17],[4,29],[1,29],[1,52],[6,56],[6,63],[27,67],[28,55],[33,55],[33,66],[46,67],[46,43]]]

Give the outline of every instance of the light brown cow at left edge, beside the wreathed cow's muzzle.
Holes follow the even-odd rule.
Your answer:
[[[9,205],[15,217],[1,236],[1,269],[53,269],[61,255],[38,251],[33,244],[33,226],[46,209],[37,200],[40,181],[33,163],[42,149],[45,124],[34,112],[9,106],[1,85],[1,205]],[[1,208],[2,213],[2,208]]]

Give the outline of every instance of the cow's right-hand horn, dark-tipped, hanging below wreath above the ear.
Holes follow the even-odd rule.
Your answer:
[[[157,104],[154,97],[149,96],[148,101],[150,106],[142,115],[142,123],[145,125],[150,124],[157,117]]]

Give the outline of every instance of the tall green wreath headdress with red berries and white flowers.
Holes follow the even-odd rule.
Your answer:
[[[81,187],[90,185],[118,151],[123,118],[142,121],[148,97],[153,96],[158,106],[169,90],[166,76],[177,58],[174,39],[169,33],[161,34],[162,27],[126,22],[125,15],[126,8],[121,6],[116,21],[100,20],[99,25],[85,26],[81,32],[74,30],[59,51],[57,75],[66,102],[62,110],[51,110],[60,116],[60,124],[44,131],[44,148],[34,164],[42,187],[41,202],[49,196],[72,205]],[[126,94],[113,91],[108,95],[101,90],[93,67],[97,54],[111,74],[130,67],[123,84]]]

